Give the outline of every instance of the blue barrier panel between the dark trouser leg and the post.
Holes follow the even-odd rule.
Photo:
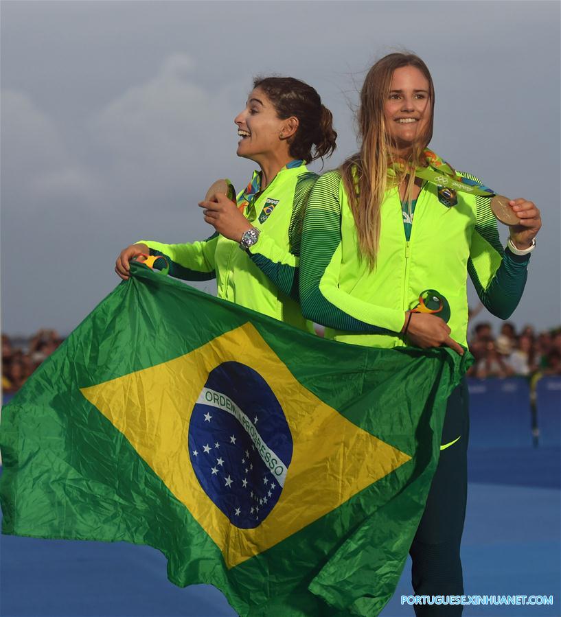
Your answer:
[[[532,447],[530,389],[524,377],[468,380],[470,448]]]

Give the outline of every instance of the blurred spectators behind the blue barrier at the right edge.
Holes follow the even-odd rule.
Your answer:
[[[472,328],[469,347],[475,358],[470,377],[561,375],[561,327],[536,333],[527,325],[517,332],[505,322],[494,336],[489,323],[478,323]]]

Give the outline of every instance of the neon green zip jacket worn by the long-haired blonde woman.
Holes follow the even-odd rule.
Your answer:
[[[461,174],[477,181],[469,174]],[[505,251],[490,198],[457,193],[450,207],[425,183],[407,241],[397,187],[380,210],[377,265],[360,256],[354,217],[339,172],[323,174],[306,207],[300,258],[304,315],[325,325],[325,337],[372,347],[406,345],[405,311],[424,290],[450,305],[450,336],[467,346],[467,275],[492,314],[506,319],[522,295],[529,255]]]

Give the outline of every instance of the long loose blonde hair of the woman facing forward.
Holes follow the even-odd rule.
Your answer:
[[[389,54],[378,60],[368,71],[360,91],[358,108],[358,131],[361,139],[360,150],[350,156],[339,168],[347,191],[350,207],[356,224],[360,254],[365,255],[370,268],[376,267],[376,256],[380,244],[380,206],[388,187],[388,167],[391,164],[391,150],[396,143],[388,135],[385,122],[385,103],[391,87],[393,71],[401,67],[415,67],[428,81],[428,96],[431,117],[424,135],[413,143],[413,151],[405,162],[403,172],[396,174],[391,185],[404,180],[411,168],[422,165],[422,152],[433,136],[433,111],[435,90],[431,73],[425,63],[415,54]],[[406,195],[413,190],[415,176],[409,174]]]

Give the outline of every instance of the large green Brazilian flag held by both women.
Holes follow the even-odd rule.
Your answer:
[[[240,615],[377,615],[466,360],[131,275],[3,409],[3,533],[147,544]]]

